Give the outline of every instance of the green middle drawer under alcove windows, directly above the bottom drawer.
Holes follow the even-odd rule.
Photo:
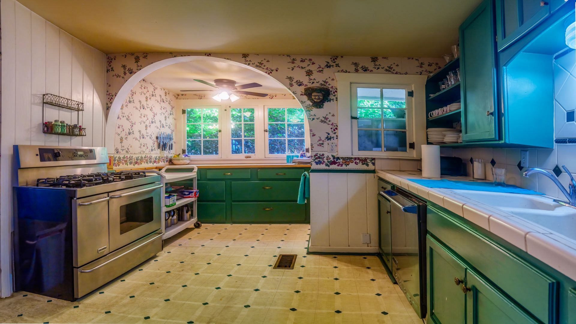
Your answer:
[[[233,201],[298,200],[300,181],[232,182]]]

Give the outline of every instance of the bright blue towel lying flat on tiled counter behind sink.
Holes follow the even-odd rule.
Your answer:
[[[458,190],[473,190],[473,191],[490,191],[492,193],[510,193],[510,194],[525,194],[525,195],[543,195],[537,191],[518,188],[511,184],[503,186],[494,186],[492,182],[473,182],[473,181],[456,181],[456,180],[428,180],[428,179],[408,179],[412,182],[421,184],[429,188],[445,188],[445,189],[458,189]]]

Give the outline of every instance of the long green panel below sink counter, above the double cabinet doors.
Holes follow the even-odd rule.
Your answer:
[[[431,205],[428,205],[427,210],[427,228],[430,233],[540,321],[555,321],[558,281],[505,250],[458,217]]]

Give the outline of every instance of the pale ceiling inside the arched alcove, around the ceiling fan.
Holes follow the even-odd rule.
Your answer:
[[[263,76],[246,67],[222,62],[195,61],[177,63],[162,67],[148,74],[145,79],[161,88],[180,94],[210,94],[213,92],[209,92],[209,90],[216,89],[196,82],[194,79],[204,80],[212,84],[214,79],[230,79],[236,81],[236,85],[251,82],[262,84],[262,86],[257,88],[242,89],[243,91],[290,95],[290,91],[285,86],[278,84],[270,76]],[[181,92],[180,90],[206,90],[206,92]]]

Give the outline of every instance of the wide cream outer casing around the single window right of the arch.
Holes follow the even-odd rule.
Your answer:
[[[357,157],[393,157],[400,159],[420,159],[422,149],[426,144],[426,92],[427,76],[410,76],[406,74],[366,74],[366,73],[335,73],[338,82],[338,152],[336,156]],[[373,84],[377,88],[406,87],[411,88],[411,108],[408,109],[407,96],[407,145],[414,142],[415,148],[408,152],[358,151],[358,120],[351,118],[356,115],[357,105],[352,104],[356,94],[354,84]],[[366,88],[367,86],[362,86]],[[410,110],[410,111],[408,111]],[[410,120],[408,120],[410,115]],[[355,135],[354,135],[355,134]],[[408,138],[412,140],[408,140]]]

